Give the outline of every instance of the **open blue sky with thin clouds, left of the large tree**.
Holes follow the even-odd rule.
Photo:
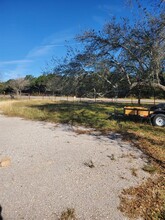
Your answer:
[[[0,80],[40,75],[77,34],[129,13],[124,0],[0,0]]]

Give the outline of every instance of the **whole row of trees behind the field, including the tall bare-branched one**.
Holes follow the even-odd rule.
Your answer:
[[[3,93],[77,97],[165,97],[164,1],[136,0],[140,18],[112,18],[102,30],[75,37],[81,49],[53,58],[53,68],[0,84]]]

